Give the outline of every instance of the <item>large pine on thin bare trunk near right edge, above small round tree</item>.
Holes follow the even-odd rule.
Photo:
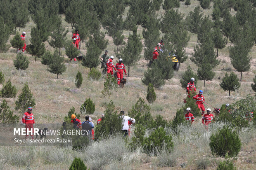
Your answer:
[[[246,72],[251,67],[251,56],[249,56],[249,52],[251,51],[251,45],[247,43],[247,40],[241,36],[239,40],[235,42],[233,47],[229,47],[229,56],[231,59],[231,64],[238,71],[241,72],[240,81],[242,82],[242,72]]]

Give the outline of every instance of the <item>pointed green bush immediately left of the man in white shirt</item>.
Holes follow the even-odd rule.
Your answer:
[[[121,133],[123,120],[119,118],[117,111],[114,111],[115,105],[113,101],[107,105],[104,111],[104,120],[95,127],[95,140],[101,140],[109,135]]]

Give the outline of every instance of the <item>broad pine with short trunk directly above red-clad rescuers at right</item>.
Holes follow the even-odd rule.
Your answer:
[[[215,75],[212,70],[220,63],[216,58],[217,56],[215,55],[213,44],[210,40],[194,48],[194,54],[192,54],[190,60],[199,67],[197,75],[199,80],[204,80],[204,86],[205,81],[213,79]]]

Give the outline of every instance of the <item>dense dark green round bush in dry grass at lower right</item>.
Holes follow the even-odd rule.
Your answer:
[[[219,156],[237,156],[241,149],[241,140],[235,131],[228,126],[224,126],[221,130],[218,130],[216,134],[210,136],[210,147],[212,154]]]

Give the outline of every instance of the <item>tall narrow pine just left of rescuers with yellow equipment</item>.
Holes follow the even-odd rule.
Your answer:
[[[145,51],[144,58],[150,63],[153,60],[152,49],[156,47],[156,44],[159,42],[160,37],[160,20],[157,19],[155,14],[150,15],[145,23],[145,28],[142,31],[143,38],[145,39]]]

